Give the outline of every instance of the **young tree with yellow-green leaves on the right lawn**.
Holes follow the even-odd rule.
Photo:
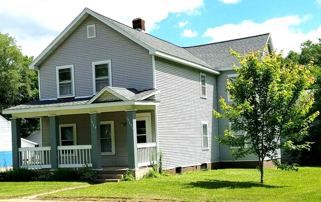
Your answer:
[[[261,184],[263,185],[263,162],[266,157],[273,160],[278,168],[297,170],[295,164],[281,164],[276,158],[277,149],[309,149],[309,142],[294,145],[307,135],[309,123],[319,115],[315,112],[306,118],[314,103],[313,92],[306,91],[314,83],[311,74],[313,62],[308,65],[284,64],[281,54],[264,51],[249,52],[241,56],[230,49],[232,56],[239,59],[241,68],[234,65],[238,73],[236,81],[227,79],[227,90],[233,104],[227,105],[219,99],[222,114],[213,110],[216,118],[228,119],[231,123],[218,137],[220,144],[230,147],[234,159],[254,154],[259,160]],[[242,136],[233,133],[242,131]],[[286,142],[281,143],[281,138]],[[249,144],[248,148],[244,143]]]

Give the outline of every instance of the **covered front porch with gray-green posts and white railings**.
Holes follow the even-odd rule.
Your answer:
[[[106,86],[93,97],[40,100],[3,110],[14,117],[12,166],[137,170],[156,162],[159,102],[150,97],[157,92]],[[21,148],[22,118],[40,118],[43,147]]]

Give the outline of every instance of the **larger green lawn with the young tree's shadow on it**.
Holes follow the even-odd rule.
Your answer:
[[[208,202],[319,202],[321,168],[298,172],[265,169],[265,185],[256,169],[220,169],[106,183],[42,196],[42,199],[114,198]]]

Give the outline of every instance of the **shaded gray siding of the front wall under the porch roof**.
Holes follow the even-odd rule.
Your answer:
[[[156,141],[155,132],[155,113],[154,111],[137,111],[137,113],[151,112],[152,118],[152,140]],[[126,126],[121,126],[126,122],[125,112],[110,112],[100,114],[100,121],[114,121],[115,126],[115,155],[102,155],[103,166],[128,166],[127,152],[127,134]],[[59,124],[76,123],[77,130],[77,145],[90,145],[90,115],[65,115],[59,117]],[[42,137],[43,146],[50,146],[49,135],[49,118],[42,118]]]

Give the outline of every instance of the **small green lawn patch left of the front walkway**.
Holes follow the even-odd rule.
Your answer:
[[[32,196],[86,184],[83,182],[0,182],[0,199]]]

